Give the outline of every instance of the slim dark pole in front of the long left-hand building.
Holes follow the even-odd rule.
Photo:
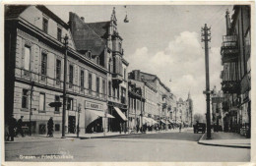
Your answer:
[[[63,82],[63,111],[62,111],[62,137],[65,137],[66,124],[66,82],[67,82],[67,56],[68,56],[68,35],[64,37],[65,55],[64,55],[64,82]]]

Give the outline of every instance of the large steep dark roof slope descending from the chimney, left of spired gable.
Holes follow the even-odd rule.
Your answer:
[[[69,23],[77,50],[91,50],[93,55],[100,55],[105,48],[105,42],[96,31],[72,12]]]

